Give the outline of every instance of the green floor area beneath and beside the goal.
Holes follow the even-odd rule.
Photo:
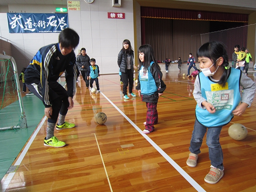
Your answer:
[[[44,116],[44,105],[36,96],[25,96],[22,100],[28,128],[0,131],[0,180],[2,180]],[[0,127],[17,126],[19,120],[20,105],[18,101],[0,111]]]

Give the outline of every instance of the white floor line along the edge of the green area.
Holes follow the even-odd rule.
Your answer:
[[[38,134],[38,132],[40,131],[41,127],[43,126],[45,120],[46,120],[46,116],[44,116],[42,122],[40,123],[40,125],[38,126],[38,128],[36,129],[36,131],[34,132],[34,134],[32,135],[32,137],[30,138],[30,140],[28,141],[28,143],[26,144],[24,150],[22,151],[22,153],[20,154],[18,160],[16,161],[16,163],[14,164],[14,166],[19,166],[20,163],[22,162],[22,160],[24,159],[24,156],[26,155],[26,153],[28,152],[28,149],[30,148],[32,142],[34,141],[34,139],[36,138],[36,135]],[[2,185],[2,192],[5,192],[5,190],[7,189],[8,185],[10,184],[13,176],[14,176],[15,172],[10,172],[8,174],[8,176],[6,177],[6,180],[4,180],[4,183]]]

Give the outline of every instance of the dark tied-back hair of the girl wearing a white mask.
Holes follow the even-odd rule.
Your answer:
[[[203,44],[196,53],[197,58],[207,57],[209,58],[214,65],[216,65],[216,60],[220,57],[223,58],[223,63],[220,67],[225,68],[228,66],[228,54],[225,49],[225,46],[222,42],[212,41]],[[218,84],[225,86],[228,79],[228,70],[224,69],[224,72],[218,81]]]

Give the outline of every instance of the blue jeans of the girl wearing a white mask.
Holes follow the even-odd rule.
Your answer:
[[[219,142],[221,129],[222,126],[208,128],[207,130],[207,127],[200,124],[196,119],[189,150],[194,154],[199,154],[201,152],[200,147],[202,145],[204,134],[207,130],[206,144],[209,148],[209,158],[211,165],[220,170],[224,170],[223,153]]]

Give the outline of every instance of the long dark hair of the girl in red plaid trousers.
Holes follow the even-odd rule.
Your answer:
[[[154,56],[154,50],[149,44],[145,44],[145,45],[140,46],[140,48],[138,49],[138,53],[144,53],[144,64],[140,60],[139,69],[143,65],[144,66],[144,72],[147,72],[148,68],[150,67],[150,63],[153,61],[156,65],[156,67],[159,70],[161,70],[160,66],[156,62],[156,58]]]

